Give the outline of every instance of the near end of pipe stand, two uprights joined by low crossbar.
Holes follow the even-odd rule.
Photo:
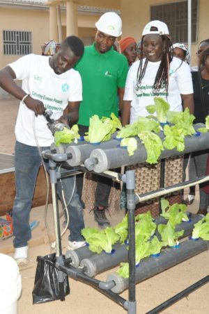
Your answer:
[[[59,291],[61,301],[65,300],[64,295],[64,277],[68,274],[70,278],[87,283],[99,290],[103,295],[106,295],[119,305],[123,306],[128,314],[136,314],[136,300],[135,300],[135,228],[134,228],[134,171],[129,171],[127,175],[123,175],[123,179],[127,182],[127,208],[129,209],[129,261],[130,265],[130,292],[129,300],[123,299],[117,293],[112,292],[114,288],[114,281],[99,281],[84,274],[85,270],[77,269],[72,265],[67,265],[67,260],[64,259],[61,248],[61,231],[59,224],[59,205],[57,198],[57,180],[61,178],[61,174],[56,172],[56,164],[68,160],[67,154],[52,154],[51,151],[42,151],[42,156],[49,159],[49,177],[52,186],[52,206],[54,215],[54,229],[56,239],[56,263],[55,266],[59,270]]]

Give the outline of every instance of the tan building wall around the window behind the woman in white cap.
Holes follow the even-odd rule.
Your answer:
[[[141,39],[141,33],[144,26],[150,21],[150,6],[177,2],[175,0],[157,1],[157,0],[121,0],[121,17],[123,20],[123,35],[132,35],[137,41]],[[197,42],[192,44],[192,62],[196,65],[196,51],[198,43],[201,40],[209,38],[209,1],[199,0],[199,15],[197,26]]]

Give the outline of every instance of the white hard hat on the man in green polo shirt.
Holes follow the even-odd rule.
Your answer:
[[[122,34],[121,17],[114,12],[104,13],[100,19],[98,19],[98,22],[95,23],[95,26],[98,28],[98,31],[107,35],[118,37]]]

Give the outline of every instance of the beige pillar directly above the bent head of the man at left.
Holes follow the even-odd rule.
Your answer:
[[[77,5],[74,0],[66,1],[66,35],[78,34],[77,27]]]

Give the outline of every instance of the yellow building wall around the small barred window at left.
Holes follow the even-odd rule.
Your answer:
[[[84,40],[84,44],[91,44],[95,37],[95,22],[99,15],[79,15],[78,27],[79,37]],[[3,31],[31,31],[32,33],[32,53],[41,53],[40,46],[43,42],[54,38],[49,38],[49,9],[32,10],[24,8],[0,8],[0,69],[20,58],[20,55],[6,56],[3,54]],[[61,12],[61,23],[63,38],[66,36],[65,11]]]

